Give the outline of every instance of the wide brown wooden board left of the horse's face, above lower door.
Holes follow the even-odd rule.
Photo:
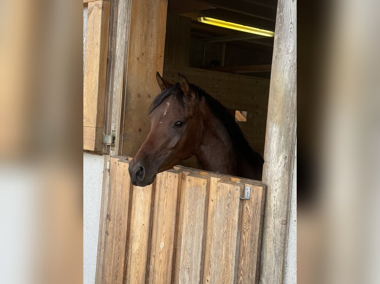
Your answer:
[[[149,129],[149,105],[159,93],[164,63],[167,0],[131,0],[122,153],[133,156]],[[133,139],[132,139],[133,138]]]

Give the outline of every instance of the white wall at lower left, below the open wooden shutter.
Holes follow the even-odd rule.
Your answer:
[[[104,156],[83,152],[83,284],[95,283]]]

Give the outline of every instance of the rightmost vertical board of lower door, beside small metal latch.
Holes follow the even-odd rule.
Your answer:
[[[242,180],[242,182],[244,181]],[[245,187],[251,188],[251,199],[243,201],[238,283],[257,284],[260,269],[265,186],[245,183]]]

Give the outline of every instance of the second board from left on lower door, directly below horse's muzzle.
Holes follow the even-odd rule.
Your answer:
[[[154,198],[154,183],[133,187],[125,283],[145,283],[149,263],[149,234]]]

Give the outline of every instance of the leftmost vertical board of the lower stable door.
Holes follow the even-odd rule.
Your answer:
[[[122,283],[130,200],[128,164],[111,158],[102,283]]]

